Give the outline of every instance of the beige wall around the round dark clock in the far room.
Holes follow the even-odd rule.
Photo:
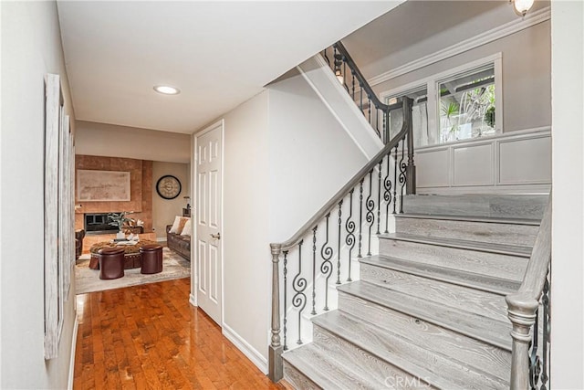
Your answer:
[[[187,204],[183,196],[191,196],[190,172],[188,163],[152,162],[152,227],[157,238],[166,239],[166,226],[172,225],[174,216],[183,215],[183,207]],[[156,192],[156,182],[166,174],[172,174],[182,185],[181,194],[174,199],[164,199]],[[193,206],[192,199],[189,199],[189,204]]]

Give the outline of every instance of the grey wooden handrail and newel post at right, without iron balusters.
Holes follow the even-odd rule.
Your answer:
[[[529,343],[539,308],[539,299],[551,261],[551,193],[541,219],[536,242],[519,290],[506,296],[507,316],[513,324],[513,354],[511,357],[511,390],[529,386]],[[537,330],[534,330],[537,332]],[[544,327],[544,332],[547,332]]]

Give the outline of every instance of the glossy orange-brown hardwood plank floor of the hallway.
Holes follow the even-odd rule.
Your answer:
[[[282,389],[189,303],[190,279],[78,295],[75,389]]]

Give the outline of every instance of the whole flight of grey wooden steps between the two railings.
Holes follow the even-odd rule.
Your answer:
[[[283,353],[297,389],[508,389],[505,296],[524,277],[547,195],[409,195],[313,343]]]

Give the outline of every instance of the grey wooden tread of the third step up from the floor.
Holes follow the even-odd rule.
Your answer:
[[[446,307],[363,281],[340,285],[337,290],[511,351],[511,323]]]

